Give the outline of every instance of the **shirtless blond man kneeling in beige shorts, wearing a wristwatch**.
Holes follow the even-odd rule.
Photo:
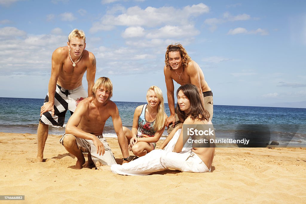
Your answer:
[[[88,153],[87,167],[98,163],[102,165],[117,164],[110,146],[103,138],[106,120],[112,117],[118,143],[123,155],[123,163],[130,161],[127,139],[123,133],[122,121],[114,102],[113,85],[109,78],[100,77],[92,88],[92,96],[79,103],[66,125],[66,132],[60,143],[66,150],[76,156],[74,169],[81,169],[85,163],[83,152]]]

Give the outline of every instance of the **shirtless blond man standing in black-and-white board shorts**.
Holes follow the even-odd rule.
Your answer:
[[[84,32],[74,29],[68,36],[67,45],[57,48],[52,54],[48,94],[40,109],[41,117],[37,129],[37,162],[43,161],[49,125],[63,127],[66,111],[73,113],[77,104],[91,95],[95,83],[96,60],[91,52],[85,50]],[[85,72],[88,93],[82,85]]]

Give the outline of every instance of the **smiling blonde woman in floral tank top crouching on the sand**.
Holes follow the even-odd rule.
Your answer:
[[[138,157],[154,150],[165,130],[166,119],[162,91],[151,86],[147,91],[147,104],[135,109],[132,130],[123,127],[129,150]]]

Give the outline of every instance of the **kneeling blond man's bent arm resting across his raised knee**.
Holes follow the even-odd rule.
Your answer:
[[[84,132],[82,129],[78,128],[82,117],[87,112],[88,104],[86,104],[84,101],[81,101],[76,107],[75,112],[70,116],[65,128],[65,133],[82,139],[91,139],[97,148],[97,154],[103,155],[105,153],[103,143],[95,135]]]

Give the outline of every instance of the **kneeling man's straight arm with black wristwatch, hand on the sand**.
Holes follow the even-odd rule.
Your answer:
[[[111,111],[110,116],[112,117],[112,120],[113,120],[114,129],[118,137],[118,143],[119,143],[123,158],[127,158],[129,156],[128,141],[125,138],[125,135],[123,133],[122,121],[119,116],[119,110],[115,104],[114,104],[114,108],[112,109],[114,110]],[[123,163],[125,163],[125,161],[123,161]]]

